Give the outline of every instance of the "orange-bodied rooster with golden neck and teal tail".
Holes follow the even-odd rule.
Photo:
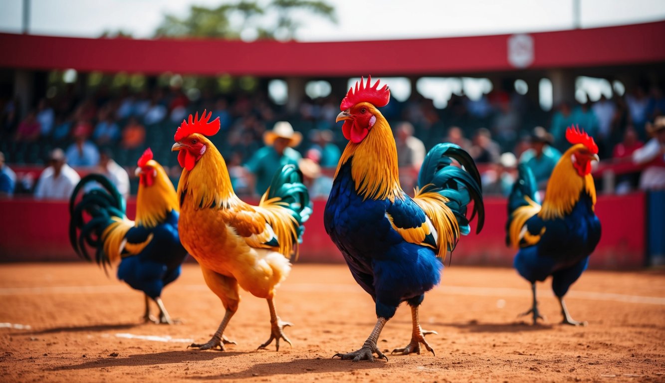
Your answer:
[[[211,113],[198,113],[183,121],[172,150],[179,151],[182,176],[178,183],[180,200],[180,239],[201,265],[205,283],[221,299],[226,309],[213,337],[201,350],[224,349],[233,343],[224,329],[238,309],[238,286],[255,297],[265,298],[270,311],[270,338],[279,351],[279,340],[291,344],[273,302],[277,285],[291,270],[291,256],[297,257],[303,223],[311,213],[307,188],[301,172],[293,165],[284,166],[261,197],[258,206],[241,201],[231,188],[226,164],[215,146],[205,138],[219,130],[219,118],[209,122]]]

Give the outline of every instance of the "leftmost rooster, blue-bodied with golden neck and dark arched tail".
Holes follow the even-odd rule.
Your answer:
[[[136,221],[127,219],[126,203],[106,177],[90,174],[80,180],[69,201],[69,240],[88,261],[92,258],[86,243],[96,249],[94,259],[104,270],[120,260],[118,279],[145,294],[144,320],[173,324],[161,295],[164,286],[180,276],[187,257],[178,238],[178,197],[150,148],[139,158],[136,174]],[[78,193],[88,188],[77,202]],[[157,304],[159,319],[150,314],[150,300]]]

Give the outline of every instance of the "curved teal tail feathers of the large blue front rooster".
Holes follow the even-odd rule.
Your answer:
[[[452,165],[456,160],[464,170]],[[466,170],[466,171],[465,171]],[[418,188],[426,192],[437,192],[448,198],[448,207],[453,211],[464,235],[471,231],[469,221],[478,215],[476,233],[485,223],[485,205],[480,174],[469,154],[456,144],[438,144],[428,152],[418,173]],[[473,201],[471,217],[466,217],[467,205]]]

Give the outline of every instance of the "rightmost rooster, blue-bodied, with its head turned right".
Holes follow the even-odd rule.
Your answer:
[[[552,171],[545,199],[540,205],[531,170],[519,166],[519,176],[508,199],[506,243],[519,249],[515,269],[531,283],[533,324],[543,319],[536,301],[536,281],[552,276],[552,289],[559,299],[563,323],[573,320],[563,296],[587,269],[589,255],[600,241],[600,221],[594,213],[596,188],[591,162],[598,161],[598,146],[578,128],[568,128],[569,148]]]

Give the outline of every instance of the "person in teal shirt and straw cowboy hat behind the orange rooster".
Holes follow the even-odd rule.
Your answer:
[[[301,140],[303,135],[293,131],[293,126],[286,121],[277,122],[273,130],[263,134],[265,146],[257,150],[245,164],[245,168],[253,175],[249,178],[249,186],[251,188],[253,185],[256,195],[265,193],[273,176],[283,166],[298,166],[302,156],[293,148],[298,146]]]

